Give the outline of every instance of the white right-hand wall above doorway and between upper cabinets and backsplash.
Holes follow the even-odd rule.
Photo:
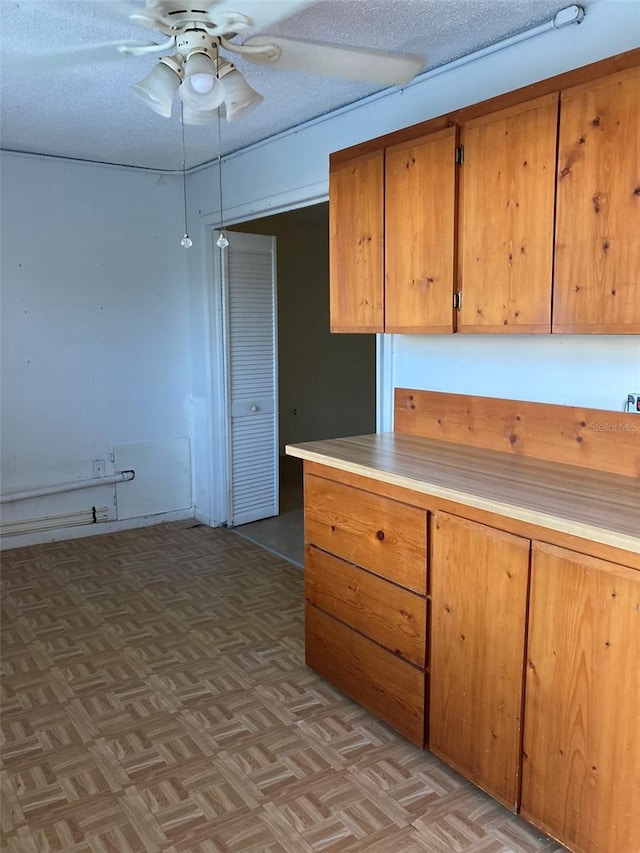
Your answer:
[[[332,151],[630,50],[639,43],[640,4],[636,0],[601,0],[589,7],[579,26],[551,30],[223,158],[225,221],[256,218],[326,198]],[[191,217],[194,222],[200,219],[203,234],[219,218],[216,187],[214,165],[191,178]],[[208,275],[205,255],[194,255],[190,270],[194,306],[206,301]],[[202,316],[193,319],[193,352],[195,362],[201,363],[209,330]],[[472,340],[386,336],[384,347],[385,358],[393,357],[385,364],[378,398],[383,429],[390,428],[389,400],[395,384],[612,410],[621,408],[622,393],[640,391],[637,337],[523,340],[519,336],[482,336]],[[452,360],[458,369],[451,369]],[[195,377],[194,388],[204,395],[201,408],[208,417],[205,373]],[[202,434],[207,431],[210,435],[210,423]],[[197,499],[207,503],[206,489]]]

